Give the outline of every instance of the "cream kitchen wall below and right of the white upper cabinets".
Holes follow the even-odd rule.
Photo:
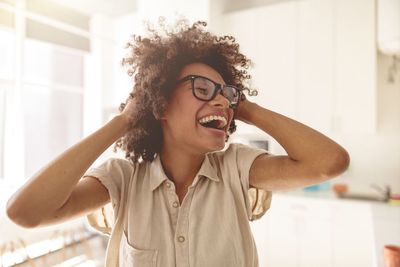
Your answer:
[[[388,82],[390,56],[377,53],[377,129],[375,134],[346,134],[332,137],[351,154],[345,179],[355,186],[389,184],[400,193],[400,72]]]

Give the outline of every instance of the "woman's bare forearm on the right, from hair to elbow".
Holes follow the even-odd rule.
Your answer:
[[[298,121],[249,101],[242,106],[240,116],[272,136],[292,160],[322,169],[348,165],[349,156],[343,147]]]

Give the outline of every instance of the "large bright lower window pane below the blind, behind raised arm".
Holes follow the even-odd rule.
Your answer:
[[[25,177],[82,137],[84,54],[27,39],[23,65]]]

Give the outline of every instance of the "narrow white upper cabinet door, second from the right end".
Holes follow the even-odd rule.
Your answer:
[[[297,102],[296,118],[322,132],[332,128],[333,1],[296,1]]]

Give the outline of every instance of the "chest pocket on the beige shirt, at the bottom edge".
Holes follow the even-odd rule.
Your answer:
[[[119,250],[119,266],[129,267],[156,267],[158,250],[137,249],[129,244],[126,234],[122,233]]]

